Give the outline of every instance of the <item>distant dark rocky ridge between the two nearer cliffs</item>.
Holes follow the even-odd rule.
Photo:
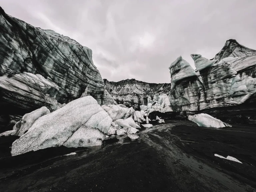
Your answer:
[[[170,83],[146,83],[135,79],[118,82],[103,80],[105,88],[118,104],[124,104],[135,109],[139,109],[140,105],[147,105],[148,96],[154,98],[157,96],[155,94],[164,94],[171,88]]]

